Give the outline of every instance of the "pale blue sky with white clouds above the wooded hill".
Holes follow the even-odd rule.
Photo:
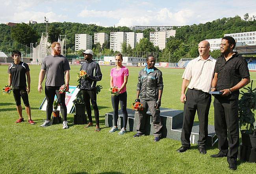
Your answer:
[[[80,22],[100,26],[183,26],[256,16],[255,0],[0,0],[0,23]]]

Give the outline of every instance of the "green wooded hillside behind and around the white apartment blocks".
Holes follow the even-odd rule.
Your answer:
[[[39,42],[41,33],[46,32],[46,24],[25,24],[20,23],[10,27],[6,24],[0,24],[0,50],[4,50],[3,46],[7,42],[16,41],[18,43],[29,45],[29,43]],[[128,27],[103,27],[95,24],[81,24],[74,22],[52,22],[48,24],[49,41],[57,41],[58,35],[67,35],[67,54],[74,54],[75,34],[87,33],[94,37],[95,32],[104,32],[110,34],[115,31],[132,31]],[[255,16],[249,17],[244,15],[241,19],[239,16],[216,19],[205,24],[193,24],[190,26],[182,26],[176,29],[175,37],[167,39],[166,48],[162,51],[149,41],[149,32],[154,30],[135,31],[143,32],[144,37],[135,48],[123,43],[122,53],[133,55],[154,54],[158,57],[158,61],[177,62],[180,58],[193,58],[198,56],[197,44],[204,39],[221,38],[227,33],[239,33],[256,31]],[[94,38],[93,38],[94,39]],[[99,44],[93,44],[93,51],[97,54],[114,53],[109,50],[109,43],[103,44],[101,49]],[[212,53],[215,56],[219,52]]]

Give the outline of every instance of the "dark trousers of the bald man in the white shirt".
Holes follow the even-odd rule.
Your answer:
[[[199,120],[198,146],[205,146],[208,137],[208,115],[211,105],[211,95],[197,89],[187,89],[186,98],[180,138],[182,145],[190,146],[190,135],[197,111]]]

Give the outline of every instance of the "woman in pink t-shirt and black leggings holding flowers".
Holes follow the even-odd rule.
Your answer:
[[[115,125],[111,128],[109,132],[115,132],[118,130],[117,128],[117,119],[118,119],[118,108],[119,108],[119,101],[121,110],[123,113],[123,128],[118,133],[119,135],[122,135],[126,133],[126,125],[127,125],[127,119],[128,114],[126,110],[127,106],[127,93],[126,93],[126,83],[129,76],[129,70],[128,68],[122,66],[122,54],[117,54],[115,56],[115,64],[117,65],[116,68],[112,68],[110,72],[110,86],[111,87],[118,87],[119,89],[119,95],[118,96],[112,96],[112,106],[113,106],[113,119]]]

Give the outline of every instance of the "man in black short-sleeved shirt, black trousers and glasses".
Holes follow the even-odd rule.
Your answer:
[[[233,52],[236,41],[230,36],[221,40],[221,54],[215,64],[211,91],[221,91],[214,99],[214,126],[219,153],[211,157],[226,157],[231,170],[237,169],[239,148],[239,89],[250,83],[247,61]],[[227,131],[228,130],[228,131]]]

